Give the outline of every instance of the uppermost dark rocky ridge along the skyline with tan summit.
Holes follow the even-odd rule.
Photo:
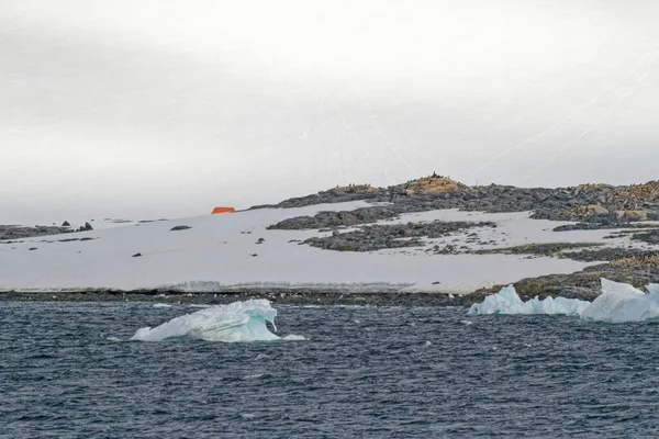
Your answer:
[[[571,188],[468,187],[443,176],[429,176],[389,188],[348,185],[293,198],[259,207],[303,207],[314,204],[365,200],[391,203],[396,213],[437,209],[525,212],[538,219],[571,221],[591,228],[621,226],[638,221],[659,221],[659,181],[628,187],[581,184]]]

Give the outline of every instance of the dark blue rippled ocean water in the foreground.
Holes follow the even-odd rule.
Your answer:
[[[0,303],[0,437],[659,437],[659,325],[277,308],[308,341],[109,341],[196,309]]]

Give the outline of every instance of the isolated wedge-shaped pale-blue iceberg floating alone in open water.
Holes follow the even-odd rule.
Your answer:
[[[267,300],[234,302],[212,306],[187,314],[157,326],[138,329],[131,340],[163,341],[172,339],[198,339],[206,341],[275,341],[281,337],[270,333],[266,322],[275,327],[277,309]],[[277,327],[275,327],[277,330]],[[289,336],[284,340],[303,340]]]

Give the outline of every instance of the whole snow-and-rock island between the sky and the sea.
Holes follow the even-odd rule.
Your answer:
[[[160,234],[164,247],[153,237],[141,245],[132,227],[87,233],[80,240],[94,244],[66,248],[77,269],[46,257],[32,266],[44,270],[36,280],[23,275],[12,283],[9,271],[0,272],[0,297],[468,305],[509,283],[523,299],[592,300],[602,277],[641,289],[659,282],[659,181],[469,187],[432,175],[389,188],[337,187],[194,221],[138,228]],[[38,230],[48,232],[59,233]],[[96,241],[103,232],[108,236]],[[56,252],[47,246],[67,241],[0,238],[5,261],[10,250],[27,258],[22,250],[36,249],[35,243]],[[191,259],[181,259],[185,252]],[[220,256],[235,263],[222,264]],[[125,279],[102,267],[119,267]]]

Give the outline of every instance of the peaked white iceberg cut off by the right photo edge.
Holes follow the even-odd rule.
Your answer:
[[[649,294],[627,283],[602,279],[602,294],[581,313],[590,322],[625,323],[659,318],[659,291],[649,284]]]

